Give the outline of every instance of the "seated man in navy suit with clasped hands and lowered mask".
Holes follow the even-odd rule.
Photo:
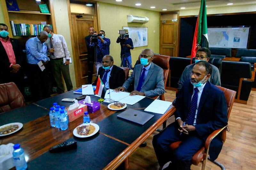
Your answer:
[[[175,122],[153,138],[153,146],[161,169],[190,169],[192,156],[204,146],[206,138],[216,129],[227,125],[227,102],[224,93],[208,80],[212,66],[199,61],[190,72],[191,79],[185,81],[176,98]],[[182,141],[171,151],[170,144]],[[215,160],[222,148],[220,135],[210,145],[210,158]]]

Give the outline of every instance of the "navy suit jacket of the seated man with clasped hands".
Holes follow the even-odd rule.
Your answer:
[[[188,117],[193,89],[190,80],[186,80],[176,98],[174,115],[175,118],[180,117],[183,122]],[[228,109],[225,95],[218,87],[207,81],[198,105],[196,132],[205,141],[214,130],[227,124]],[[220,135],[212,140],[209,150],[211,160],[218,157],[222,144]]]

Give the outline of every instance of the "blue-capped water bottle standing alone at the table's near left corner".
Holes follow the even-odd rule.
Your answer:
[[[13,156],[13,160],[14,160],[16,169],[17,170],[27,169],[28,165],[25,160],[24,150],[20,147],[20,144],[15,144],[13,146],[13,149],[14,150],[12,152],[12,156]]]

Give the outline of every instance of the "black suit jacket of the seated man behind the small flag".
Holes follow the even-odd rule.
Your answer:
[[[98,74],[100,75],[101,80],[103,78],[104,72],[105,70],[102,67],[100,67]],[[112,70],[110,72],[110,77],[109,77],[109,88],[115,89],[117,87],[122,86],[124,83],[124,80],[125,80],[124,70],[116,65],[113,65]],[[96,80],[93,82],[92,85],[96,85],[97,81],[98,81],[98,77],[96,78]]]

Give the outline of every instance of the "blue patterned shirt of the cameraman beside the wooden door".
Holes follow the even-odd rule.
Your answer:
[[[110,46],[110,40],[108,38],[103,38],[104,42],[102,43],[100,41],[100,39],[98,38],[98,46],[100,48],[100,50],[97,48],[97,63],[102,63],[102,58],[105,55],[109,55],[109,46]],[[90,43],[90,47],[91,49],[93,49],[92,47],[94,47],[94,43]],[[101,53],[102,56],[101,56]]]

